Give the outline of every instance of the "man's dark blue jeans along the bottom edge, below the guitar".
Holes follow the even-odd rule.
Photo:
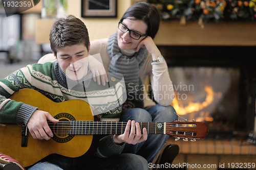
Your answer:
[[[135,154],[120,154],[108,158],[90,157],[67,158],[57,156],[44,162],[39,162],[28,170],[148,170],[147,161]]]

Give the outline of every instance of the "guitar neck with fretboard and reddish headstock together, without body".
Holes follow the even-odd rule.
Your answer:
[[[49,123],[56,136],[68,135],[111,135],[123,134],[126,122],[101,122],[70,120],[57,124]],[[146,128],[147,134],[167,134],[176,137],[205,138],[208,128],[202,122],[140,122],[140,130]]]

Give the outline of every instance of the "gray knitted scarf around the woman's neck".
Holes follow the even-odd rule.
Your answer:
[[[123,109],[144,108],[143,86],[139,78],[139,69],[143,66],[148,54],[146,48],[140,48],[132,58],[128,58],[120,51],[117,42],[117,32],[108,40],[108,53],[111,58],[109,72],[118,72],[123,75],[127,100]]]

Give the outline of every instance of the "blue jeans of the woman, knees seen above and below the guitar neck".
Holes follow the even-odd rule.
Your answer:
[[[120,121],[127,122],[128,120],[135,120],[135,122],[173,122],[178,119],[173,106],[148,106],[145,109],[133,108],[123,110],[121,113]],[[157,153],[163,147],[168,135],[149,134],[147,140],[135,145],[125,143],[122,153],[132,153],[142,156],[151,162]]]

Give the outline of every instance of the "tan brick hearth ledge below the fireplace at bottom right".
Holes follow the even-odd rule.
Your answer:
[[[178,144],[180,148],[172,166],[187,170],[256,169],[256,145],[245,140],[204,139],[193,142],[175,141],[170,137],[167,141]]]

